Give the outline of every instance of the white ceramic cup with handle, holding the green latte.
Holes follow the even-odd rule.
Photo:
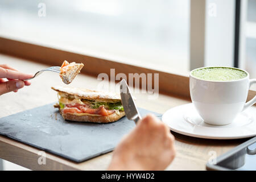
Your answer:
[[[211,125],[228,125],[238,113],[255,104],[256,96],[246,102],[250,86],[256,83],[256,79],[249,80],[248,72],[238,69],[247,73],[247,76],[240,80],[207,81],[191,75],[195,70],[189,75],[189,89],[191,100],[204,122]]]

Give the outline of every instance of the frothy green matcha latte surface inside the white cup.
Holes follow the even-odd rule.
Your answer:
[[[211,67],[196,69],[191,75],[207,81],[232,81],[245,78],[247,73],[235,68]]]

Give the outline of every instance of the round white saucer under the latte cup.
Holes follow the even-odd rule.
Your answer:
[[[238,139],[256,136],[256,107],[238,114],[233,123],[209,125],[197,114],[193,104],[185,104],[166,111],[162,116],[172,131],[197,138]]]

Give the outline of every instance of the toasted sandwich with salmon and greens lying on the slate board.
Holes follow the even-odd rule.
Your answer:
[[[64,86],[52,87],[58,92],[60,114],[79,122],[109,123],[125,116],[118,93]]]

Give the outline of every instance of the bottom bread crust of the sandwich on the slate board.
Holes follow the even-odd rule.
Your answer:
[[[60,109],[60,114],[64,119],[69,121],[78,121],[78,122],[93,122],[93,123],[111,123],[118,121],[120,118],[125,116],[125,111],[119,111],[119,114],[113,113],[107,116],[92,116],[92,115],[75,115],[63,113],[63,110]]]

